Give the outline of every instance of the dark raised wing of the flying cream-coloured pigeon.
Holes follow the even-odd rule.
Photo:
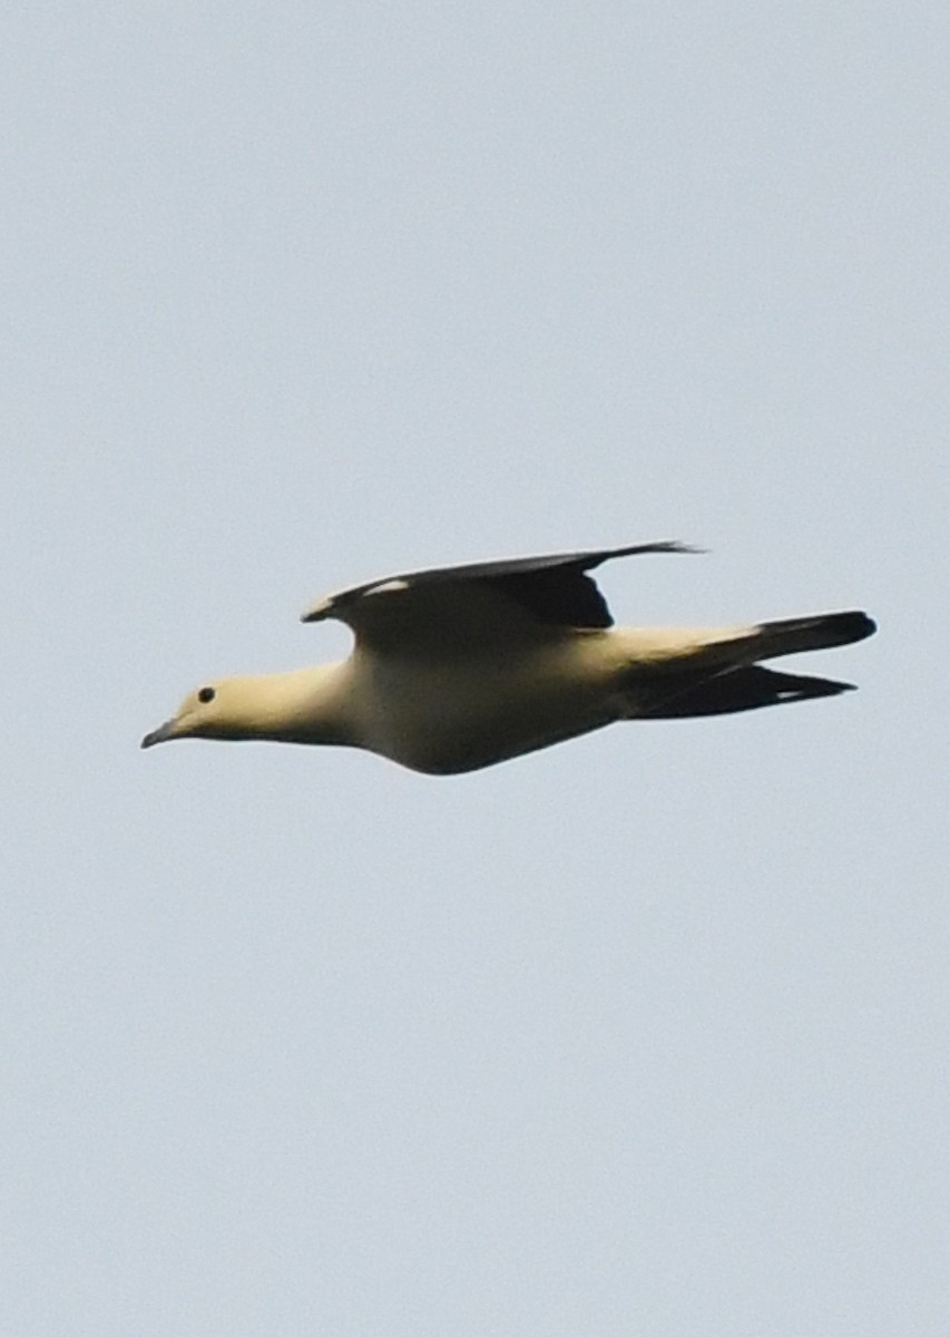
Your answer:
[[[361,643],[377,647],[534,643],[559,630],[613,626],[604,596],[587,574],[609,558],[695,551],[681,543],[640,543],[413,571],[330,595],[302,620],[335,618]]]

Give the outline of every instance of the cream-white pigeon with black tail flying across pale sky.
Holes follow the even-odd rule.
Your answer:
[[[347,659],[207,682],[142,747],[175,738],[326,743],[452,775],[616,721],[724,715],[852,690],[762,660],[862,640],[877,630],[864,612],[615,627],[592,571],[615,558],[697,551],[640,543],[355,586],[301,618],[343,622],[354,636]]]

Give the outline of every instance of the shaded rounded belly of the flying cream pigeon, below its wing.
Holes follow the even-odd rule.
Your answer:
[[[556,663],[498,660],[374,671],[361,743],[410,770],[456,774],[600,729],[617,718],[596,679]]]

